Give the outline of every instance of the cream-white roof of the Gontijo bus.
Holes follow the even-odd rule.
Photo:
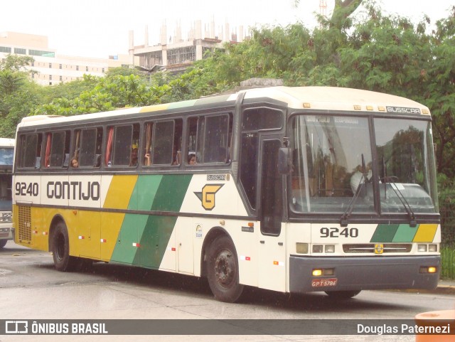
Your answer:
[[[18,127],[35,126],[37,124],[50,124],[57,122],[78,122],[83,119],[97,119],[101,117],[122,117],[127,114],[159,112],[168,109],[183,109],[190,107],[209,107],[218,105],[233,105],[240,93],[245,93],[245,100],[259,100],[269,98],[274,101],[284,102],[293,109],[321,109],[350,112],[392,112],[400,114],[427,114],[428,107],[418,102],[369,90],[358,90],[343,87],[263,87],[250,90],[241,90],[232,95],[218,95],[203,97],[198,100],[171,102],[162,105],[146,107],[132,107],[116,109],[109,112],[81,114],[71,117],[55,115],[36,115],[25,117]],[[390,110],[392,109],[392,110]],[[408,110],[407,110],[408,109]],[[412,111],[411,109],[418,109]]]

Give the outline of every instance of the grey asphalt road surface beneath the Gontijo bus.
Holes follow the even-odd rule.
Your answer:
[[[455,309],[441,293],[364,291],[348,301],[248,289],[239,304],[213,299],[205,279],[97,263],[57,272],[48,252],[8,242],[0,250],[0,319],[414,319]],[[176,321],[178,324],[178,321]],[[317,328],[317,326],[316,326]],[[176,326],[178,331],[178,326]],[[181,331],[178,331],[181,334]],[[319,333],[321,333],[319,331]],[[323,332],[322,332],[323,333]],[[415,341],[414,336],[0,336],[0,341]]]

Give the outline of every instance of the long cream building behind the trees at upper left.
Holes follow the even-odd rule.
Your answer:
[[[109,58],[86,58],[58,55],[48,48],[48,37],[28,33],[1,32],[0,59],[8,54],[30,55],[35,59],[30,69],[38,73],[32,75],[40,85],[57,85],[82,78],[84,74],[103,76],[109,68],[129,67],[129,55],[109,56]],[[132,63],[134,60],[132,60]],[[139,63],[139,62],[137,62]]]

